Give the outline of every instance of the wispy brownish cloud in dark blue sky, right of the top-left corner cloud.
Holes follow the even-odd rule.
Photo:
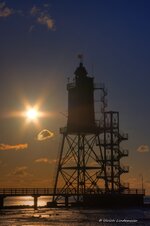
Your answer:
[[[48,5],[44,5],[44,9],[34,5],[30,10],[30,15],[36,18],[38,24],[47,26],[48,30],[54,29],[55,23],[48,13]]]

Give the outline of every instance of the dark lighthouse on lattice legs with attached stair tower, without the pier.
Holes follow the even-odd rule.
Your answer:
[[[119,113],[106,111],[107,92],[102,85],[95,85],[93,77],[80,63],[72,83],[67,84],[67,126],[60,129],[62,143],[59,151],[54,182],[53,202],[62,197],[83,202],[87,194],[120,192],[125,189],[120,181],[120,159],[128,151],[120,149],[120,142],[127,139],[119,131]],[[100,90],[102,109],[95,117],[94,91]],[[58,189],[59,188],[59,189]],[[68,200],[67,200],[68,202]]]

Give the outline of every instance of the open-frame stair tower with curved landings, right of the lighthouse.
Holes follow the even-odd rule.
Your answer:
[[[119,112],[104,112],[100,137],[104,171],[99,174],[99,178],[104,179],[106,192],[121,192],[128,186],[121,183],[120,177],[123,173],[128,173],[129,167],[120,163],[122,157],[128,156],[128,150],[120,147],[120,143],[128,139],[128,134],[119,131]]]

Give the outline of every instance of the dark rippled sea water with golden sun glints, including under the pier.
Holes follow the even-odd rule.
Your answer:
[[[147,202],[148,199],[145,201]],[[48,197],[41,197],[39,206]],[[33,205],[32,197],[6,198],[7,209],[0,210],[0,226],[150,226],[150,208],[83,209],[83,208],[26,208],[13,209],[13,205]]]

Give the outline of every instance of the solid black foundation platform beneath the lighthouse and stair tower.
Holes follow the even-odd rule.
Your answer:
[[[68,198],[68,197],[67,197]],[[80,197],[81,198],[81,197]],[[47,207],[130,208],[144,206],[144,194],[86,194],[81,201],[48,202]]]

